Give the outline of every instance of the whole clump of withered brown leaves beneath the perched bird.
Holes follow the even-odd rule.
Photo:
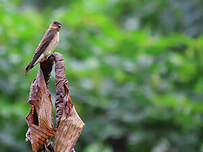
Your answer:
[[[56,129],[53,127],[53,105],[48,91],[52,66],[55,62],[56,89]],[[84,126],[78,116],[71,97],[65,75],[65,64],[61,54],[54,53],[47,61],[40,64],[36,79],[30,88],[28,103],[31,109],[26,117],[29,126],[26,140],[32,144],[32,150],[51,152],[72,152]],[[54,146],[48,139],[55,136]]]

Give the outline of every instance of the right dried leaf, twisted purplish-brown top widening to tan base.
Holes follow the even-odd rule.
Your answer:
[[[64,59],[59,53],[54,53],[54,57],[56,64],[56,126],[58,127],[55,134],[54,151],[72,152],[84,123],[78,116],[69,96]]]

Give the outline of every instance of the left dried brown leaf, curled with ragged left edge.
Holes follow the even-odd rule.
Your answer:
[[[26,117],[29,126],[26,139],[30,140],[33,151],[37,152],[47,139],[54,136],[53,107],[41,69],[39,69],[37,78],[31,85],[28,102],[32,104],[32,108]],[[34,111],[37,115],[37,124]]]

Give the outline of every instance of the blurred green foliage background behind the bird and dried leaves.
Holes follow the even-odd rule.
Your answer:
[[[53,20],[76,151],[203,152],[202,0],[0,0],[0,152],[31,152],[24,69]]]

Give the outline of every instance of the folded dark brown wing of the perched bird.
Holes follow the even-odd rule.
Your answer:
[[[35,62],[37,61],[37,59],[41,56],[41,54],[45,51],[45,49],[48,47],[49,43],[51,42],[51,40],[54,38],[54,36],[56,35],[56,30],[54,29],[49,29],[46,31],[46,33],[44,34],[40,44],[38,45],[35,54],[33,56],[32,61],[29,63],[29,65],[26,67],[26,72],[28,72],[35,64]]]

